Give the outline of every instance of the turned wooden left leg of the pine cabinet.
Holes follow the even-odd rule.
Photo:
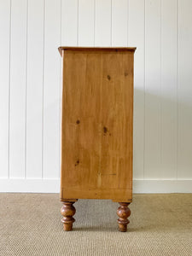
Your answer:
[[[61,214],[63,216],[61,222],[63,223],[63,230],[65,231],[73,230],[73,222],[75,221],[73,215],[76,212],[73,203],[74,201],[63,201],[63,207],[61,207]]]

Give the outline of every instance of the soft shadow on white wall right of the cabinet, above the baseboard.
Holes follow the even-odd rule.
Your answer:
[[[154,91],[135,86],[135,179],[192,177],[192,95],[177,91],[177,84],[175,90],[164,84]]]

